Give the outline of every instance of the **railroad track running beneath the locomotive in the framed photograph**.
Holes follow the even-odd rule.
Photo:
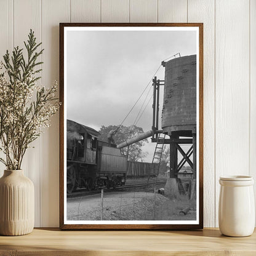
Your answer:
[[[164,185],[166,182],[158,182],[156,185]],[[124,186],[117,186],[116,188],[104,188],[104,191],[106,192],[111,192],[111,191],[116,191],[116,190],[126,190],[127,188],[143,188],[143,186],[152,186],[154,185],[154,182],[150,183],[138,183],[138,184],[130,184],[130,185],[124,185]],[[93,191],[87,191],[86,188],[79,189],[79,191],[73,192],[71,194],[67,194],[67,198],[80,198],[82,197],[87,197],[87,196],[92,196],[95,194],[100,194],[100,188],[99,190],[93,190]]]

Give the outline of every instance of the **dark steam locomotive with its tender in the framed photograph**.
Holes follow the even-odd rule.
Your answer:
[[[66,121],[66,191],[78,187],[93,190],[126,182],[127,157],[116,145],[104,142],[100,133],[71,120]]]

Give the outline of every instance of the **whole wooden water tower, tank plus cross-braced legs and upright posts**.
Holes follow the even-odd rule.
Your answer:
[[[196,55],[174,58],[162,62],[165,67],[164,81],[153,79],[153,137],[157,141],[159,90],[164,86],[162,106],[162,132],[170,139],[162,143],[170,144],[170,178],[177,178],[178,171],[187,162],[196,178]],[[180,146],[190,145],[188,151]],[[178,151],[182,160],[178,162]],[[190,157],[193,154],[193,161]]]

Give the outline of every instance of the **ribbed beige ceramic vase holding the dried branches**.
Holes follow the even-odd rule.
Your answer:
[[[23,170],[4,170],[0,178],[0,234],[20,236],[34,228],[34,185]]]

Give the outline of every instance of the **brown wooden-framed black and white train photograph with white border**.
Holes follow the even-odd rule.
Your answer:
[[[203,227],[202,23],[60,23],[60,228]]]

